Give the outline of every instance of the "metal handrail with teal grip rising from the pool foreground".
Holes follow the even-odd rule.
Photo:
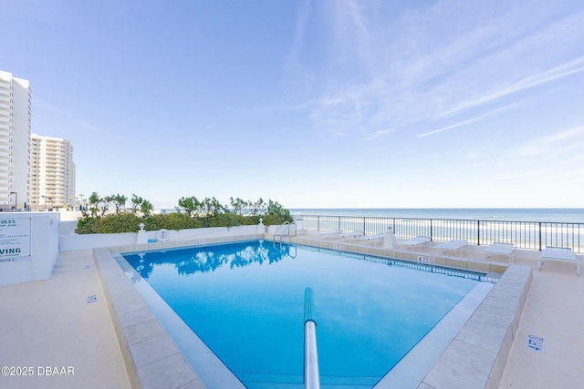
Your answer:
[[[311,288],[304,290],[304,387],[306,389],[320,389],[317,321],[314,316],[314,302]]]

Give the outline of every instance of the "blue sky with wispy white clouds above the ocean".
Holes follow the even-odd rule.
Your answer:
[[[584,206],[581,0],[0,0],[76,192]]]

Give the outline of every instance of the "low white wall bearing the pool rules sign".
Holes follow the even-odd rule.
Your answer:
[[[49,279],[58,256],[58,212],[2,212],[0,226],[0,286]]]

